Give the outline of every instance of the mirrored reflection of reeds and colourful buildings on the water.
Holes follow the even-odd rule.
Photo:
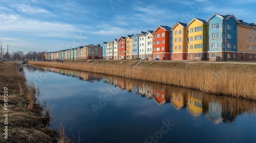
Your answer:
[[[121,90],[140,94],[142,98],[154,99],[158,105],[172,105],[176,110],[187,109],[195,117],[206,115],[212,122],[231,123],[239,114],[255,114],[256,102],[238,98],[216,96],[196,90],[159,85],[120,77],[86,73],[54,67],[27,66],[29,71],[51,71],[83,81],[100,81],[118,86]]]

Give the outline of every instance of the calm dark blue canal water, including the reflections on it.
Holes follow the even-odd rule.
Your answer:
[[[256,102],[23,65],[40,102],[82,142],[256,142]],[[55,126],[54,126],[55,127]]]

